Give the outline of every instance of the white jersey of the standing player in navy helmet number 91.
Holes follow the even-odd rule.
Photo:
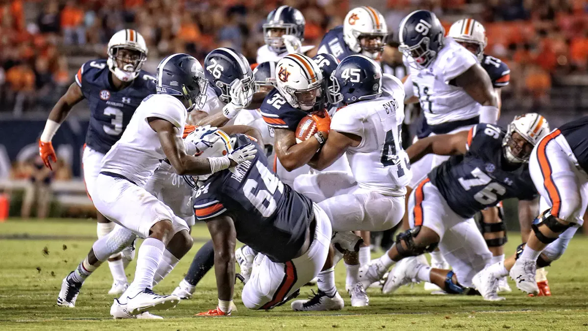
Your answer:
[[[452,85],[452,80],[476,63],[475,55],[453,38],[445,38],[445,45],[429,67],[410,68],[413,90],[429,125],[467,120],[479,114],[482,105],[463,88]],[[408,67],[406,61],[405,65]]]

